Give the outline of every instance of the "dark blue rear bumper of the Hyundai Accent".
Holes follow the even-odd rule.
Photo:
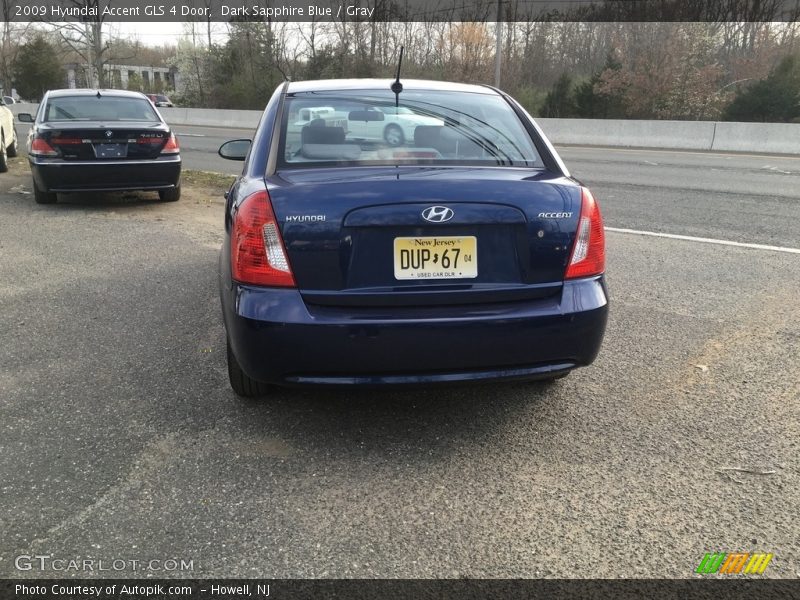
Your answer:
[[[602,277],[494,305],[357,310],[306,306],[297,290],[222,286],[242,369],[275,384],[398,385],[536,379],[590,364],[608,315]]]

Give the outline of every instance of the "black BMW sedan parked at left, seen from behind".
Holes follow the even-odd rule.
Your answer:
[[[181,195],[178,140],[144,94],[124,90],[51,90],[28,134],[36,202],[57,192],[154,190]]]

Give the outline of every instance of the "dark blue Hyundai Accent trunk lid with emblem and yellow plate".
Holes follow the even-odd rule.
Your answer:
[[[292,169],[268,179],[306,302],[435,305],[560,292],[581,192],[516,168]]]

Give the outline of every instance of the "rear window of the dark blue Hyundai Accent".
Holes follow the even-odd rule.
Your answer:
[[[542,167],[501,97],[389,89],[308,92],[286,99],[282,166],[442,164]]]

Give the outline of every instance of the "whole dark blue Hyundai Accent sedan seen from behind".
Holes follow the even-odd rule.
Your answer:
[[[392,83],[286,83],[252,141],[220,148],[244,160],[220,257],[240,395],[556,379],[599,351],[589,190],[504,93]],[[398,131],[398,114],[418,124]]]

